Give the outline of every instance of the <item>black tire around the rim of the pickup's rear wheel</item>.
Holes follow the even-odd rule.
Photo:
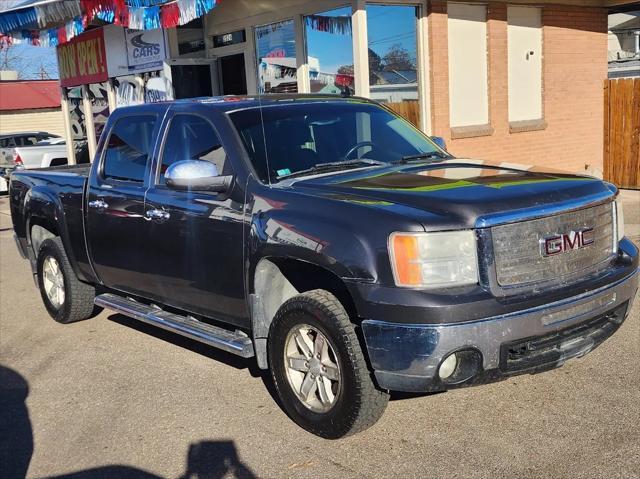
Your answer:
[[[43,265],[49,257],[57,261],[62,271],[65,298],[59,307],[51,302],[44,287]],[[78,280],[60,238],[49,238],[42,242],[38,251],[37,275],[42,301],[49,315],[58,323],[68,324],[82,321],[100,312],[100,309],[93,304],[96,296],[95,288]]]

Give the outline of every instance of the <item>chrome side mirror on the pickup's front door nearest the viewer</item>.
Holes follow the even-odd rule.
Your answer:
[[[231,187],[232,176],[220,176],[216,165],[205,160],[176,161],[167,168],[165,182],[174,190],[223,193]]]

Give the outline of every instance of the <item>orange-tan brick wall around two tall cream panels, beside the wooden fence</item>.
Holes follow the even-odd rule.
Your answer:
[[[433,0],[429,11],[431,113],[433,134],[447,140],[457,156],[536,164],[601,174],[603,80],[607,77],[607,12],[600,8],[544,6],[544,130],[509,132],[507,82],[507,5],[490,2],[490,136],[451,139],[446,2]],[[585,165],[588,165],[585,167]]]

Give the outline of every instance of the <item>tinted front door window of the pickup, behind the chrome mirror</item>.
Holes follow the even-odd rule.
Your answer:
[[[206,160],[218,168],[218,174],[228,174],[227,155],[211,123],[195,115],[176,115],[171,120],[162,153],[159,183],[164,173],[176,161]]]

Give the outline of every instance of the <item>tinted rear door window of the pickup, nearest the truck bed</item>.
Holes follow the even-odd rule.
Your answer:
[[[104,157],[102,174],[105,178],[144,181],[155,123],[153,115],[129,116],[116,122]]]

